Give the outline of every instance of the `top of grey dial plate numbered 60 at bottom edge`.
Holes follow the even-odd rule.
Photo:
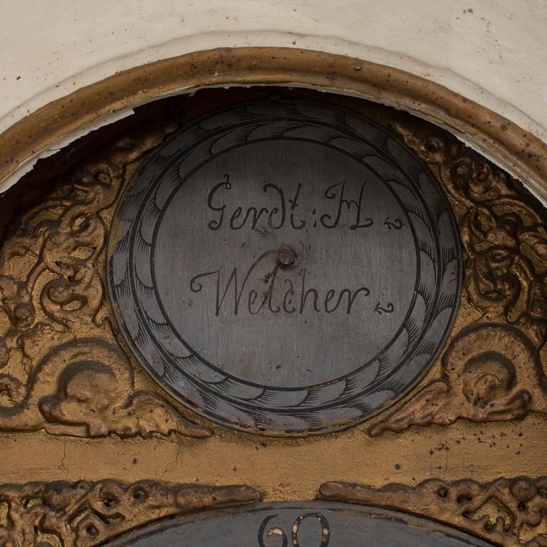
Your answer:
[[[160,521],[111,547],[491,547],[417,516],[351,504],[253,504]]]

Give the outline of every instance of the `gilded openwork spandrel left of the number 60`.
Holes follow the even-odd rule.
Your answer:
[[[257,501],[251,486],[102,480],[0,485],[0,545],[92,547],[157,519]]]

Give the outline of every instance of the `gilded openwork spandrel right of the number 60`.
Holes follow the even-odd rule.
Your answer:
[[[429,479],[416,486],[372,486],[328,482],[321,497],[380,506],[425,516],[474,533],[504,547],[547,546],[547,477],[496,479],[486,484],[464,479]]]

